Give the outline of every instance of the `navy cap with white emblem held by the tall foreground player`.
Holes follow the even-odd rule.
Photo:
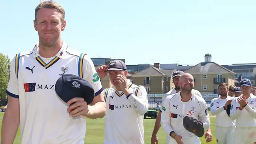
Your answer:
[[[55,84],[55,91],[66,103],[72,98],[84,98],[90,104],[94,99],[94,89],[90,82],[73,74],[61,76]]]

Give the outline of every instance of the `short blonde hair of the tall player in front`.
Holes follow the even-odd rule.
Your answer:
[[[62,8],[62,6],[60,6],[60,4],[58,2],[44,1],[44,2],[41,2],[40,4],[38,4],[38,6],[35,9],[35,20],[36,20],[38,10],[40,10],[40,8],[55,9],[57,12],[59,12],[62,15],[62,18],[60,18],[61,22],[64,22],[64,20],[65,20],[65,10],[64,10],[64,8]]]

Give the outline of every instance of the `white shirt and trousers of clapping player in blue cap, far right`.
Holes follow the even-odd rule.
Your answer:
[[[256,97],[251,94],[246,100],[248,104],[242,110],[239,109],[239,97],[232,102],[233,109],[230,110],[230,118],[236,120],[234,144],[253,144],[256,142]]]

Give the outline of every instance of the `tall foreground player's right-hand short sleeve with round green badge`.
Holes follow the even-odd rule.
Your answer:
[[[83,78],[91,83],[95,92],[95,96],[98,96],[103,91],[103,88],[100,82],[100,77],[98,76],[95,70],[95,67],[91,58],[85,55],[82,65],[83,65],[83,68],[82,68]]]

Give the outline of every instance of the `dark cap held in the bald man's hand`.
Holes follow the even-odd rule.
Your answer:
[[[183,118],[183,126],[186,130],[194,133],[199,138],[204,135],[204,127],[195,116],[186,115]]]

